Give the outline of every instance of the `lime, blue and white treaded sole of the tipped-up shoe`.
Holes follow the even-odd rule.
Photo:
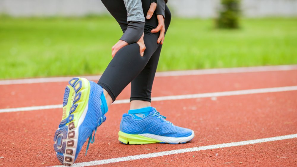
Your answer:
[[[71,166],[75,160],[79,126],[88,111],[90,83],[85,78],[73,78],[65,88],[63,116],[54,136],[54,149],[59,161]]]

